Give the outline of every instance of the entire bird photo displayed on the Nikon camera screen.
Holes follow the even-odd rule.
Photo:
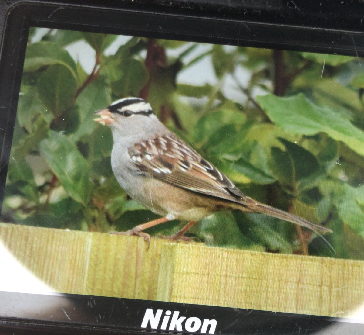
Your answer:
[[[297,255],[364,260],[362,63],[31,28],[1,250],[50,292],[274,311],[282,287],[331,299],[325,272],[302,281],[298,263],[319,258]],[[353,280],[338,269],[338,287]],[[247,285],[261,276],[265,293]]]

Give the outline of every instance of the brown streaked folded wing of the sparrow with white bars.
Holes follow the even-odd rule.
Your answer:
[[[128,153],[141,172],[171,185],[237,203],[244,197],[225,174],[172,133],[137,143]]]

